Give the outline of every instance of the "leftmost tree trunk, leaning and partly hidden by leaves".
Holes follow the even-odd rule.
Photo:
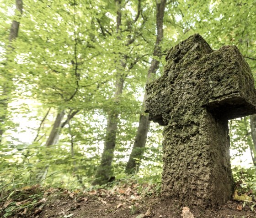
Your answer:
[[[22,7],[23,7],[23,2],[22,0],[16,0],[16,15],[20,17],[22,15]],[[9,35],[9,45],[8,48],[13,50],[11,46],[11,42],[14,41],[19,32],[19,26],[20,22],[13,20],[11,23],[11,30],[10,30],[10,35]],[[7,51],[7,53],[9,53]],[[8,60],[7,60],[8,61]],[[5,66],[5,68],[8,68],[8,65]],[[7,115],[7,107],[8,107],[8,101],[10,98],[11,94],[11,84],[12,84],[12,76],[6,81],[5,84],[2,84],[1,90],[2,90],[2,97],[0,98],[0,144],[2,141],[2,136],[4,133],[4,123]]]

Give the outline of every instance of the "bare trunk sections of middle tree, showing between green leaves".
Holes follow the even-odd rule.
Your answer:
[[[122,24],[121,0],[116,0],[116,5],[118,33],[120,31],[120,25]],[[118,70],[119,72],[125,71],[126,58],[127,57],[124,57],[124,60],[120,61],[120,69]],[[119,96],[123,93],[124,78],[124,73],[121,73],[117,76],[114,93],[114,102],[116,104],[118,104],[119,102]],[[95,180],[92,182],[92,184],[94,185],[105,184],[112,178],[112,160],[114,157],[114,149],[116,146],[118,115],[119,111],[115,109],[112,110],[112,112],[108,115],[104,149],[101,156],[101,163],[96,170]]]

